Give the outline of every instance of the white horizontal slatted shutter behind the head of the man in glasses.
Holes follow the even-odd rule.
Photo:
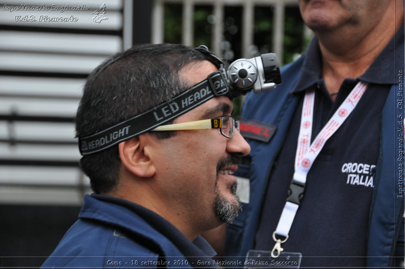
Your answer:
[[[123,48],[123,1],[107,1],[108,20],[96,23],[92,13],[102,3],[0,1],[0,203],[79,205],[89,191],[72,119],[85,77]],[[89,10],[3,10],[21,4]],[[18,21],[27,15],[37,21]]]

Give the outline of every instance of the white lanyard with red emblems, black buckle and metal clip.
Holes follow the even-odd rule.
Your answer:
[[[298,134],[297,151],[295,154],[294,176],[290,185],[290,191],[292,193],[288,197],[286,205],[284,205],[276,231],[273,233],[273,239],[276,241],[276,244],[271,252],[271,256],[274,258],[283,251],[281,243],[284,243],[288,239],[288,233],[294,221],[299,206],[299,200],[301,200],[302,197],[300,195],[303,195],[307,175],[313,161],[324,147],[326,141],[343,124],[350,113],[352,113],[361,96],[366,91],[367,86],[368,84],[362,81],[357,83],[356,87],[353,88],[352,92],[350,92],[311,144],[315,92],[314,90],[307,90],[301,113],[300,132]],[[290,199],[290,197],[292,198]],[[280,239],[276,239],[276,235],[281,235],[286,237],[286,239],[281,241]],[[274,254],[275,251],[277,251],[277,254]]]

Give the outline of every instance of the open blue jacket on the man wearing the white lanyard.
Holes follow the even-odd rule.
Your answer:
[[[304,55],[296,62],[281,69],[283,83],[275,90],[265,94],[250,93],[247,96],[242,117],[277,126],[277,131],[269,143],[247,139],[252,148],[249,154],[252,157],[251,165],[240,165],[236,175],[250,179],[250,201],[249,204],[243,204],[243,211],[228,226],[226,256],[243,257],[249,249],[254,248],[267,181],[299,101],[299,96],[290,94],[290,89],[294,87],[300,76],[305,57]],[[402,62],[403,66],[403,52],[401,58],[396,60]],[[403,72],[401,63],[397,66],[400,66],[400,68],[395,68],[398,74],[393,75],[401,75],[401,70]],[[389,263],[392,263],[389,257],[394,256],[394,245],[399,237],[400,246],[402,245],[403,249],[403,231],[399,235],[403,230],[400,228],[404,214],[404,200],[401,196],[403,186],[399,185],[403,171],[401,174],[398,168],[400,163],[404,162],[403,159],[400,159],[401,150],[398,138],[399,134],[403,136],[404,131],[403,125],[397,122],[397,116],[404,115],[403,108],[397,102],[398,98],[401,98],[398,97],[398,93],[403,92],[403,84],[401,84],[401,80],[396,80],[399,83],[392,85],[382,111],[380,155],[377,162],[368,229],[368,267],[387,267]]]

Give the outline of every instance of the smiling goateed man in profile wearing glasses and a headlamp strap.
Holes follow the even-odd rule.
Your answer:
[[[43,267],[215,266],[200,234],[237,216],[232,173],[250,151],[220,65],[139,45],[90,74],[76,130],[94,194]]]

